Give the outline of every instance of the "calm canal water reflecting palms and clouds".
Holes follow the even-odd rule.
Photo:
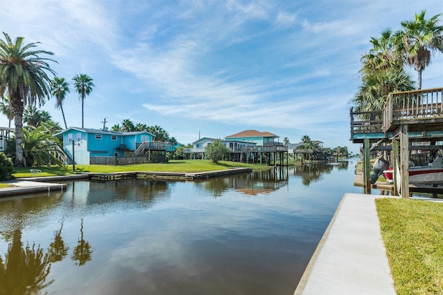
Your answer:
[[[355,164],[0,199],[0,294],[292,295]]]

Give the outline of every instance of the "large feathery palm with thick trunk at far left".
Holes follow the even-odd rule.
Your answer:
[[[48,64],[54,61],[40,55],[53,55],[45,50],[34,50],[39,44],[24,44],[24,37],[15,41],[3,32],[6,41],[0,39],[0,96],[10,95],[15,122],[15,164],[24,164],[23,111],[25,105],[42,106],[50,96],[51,79],[46,72],[55,74]]]

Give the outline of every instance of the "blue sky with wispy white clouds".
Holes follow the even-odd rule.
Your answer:
[[[93,79],[85,128],[129,119],[181,144],[255,129],[358,153],[349,112],[361,56],[370,37],[422,10],[443,13],[443,1],[0,0],[0,28],[54,53],[57,77]],[[443,86],[442,53],[422,79],[422,88]],[[68,127],[81,127],[78,93],[63,107]],[[54,98],[42,109],[64,127]]]

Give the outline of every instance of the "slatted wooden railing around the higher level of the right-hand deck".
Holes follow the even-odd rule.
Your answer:
[[[391,93],[383,108],[383,132],[395,122],[443,117],[443,88]]]

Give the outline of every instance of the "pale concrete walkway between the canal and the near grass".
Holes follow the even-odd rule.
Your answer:
[[[374,202],[381,197],[345,194],[294,295],[396,294]]]

